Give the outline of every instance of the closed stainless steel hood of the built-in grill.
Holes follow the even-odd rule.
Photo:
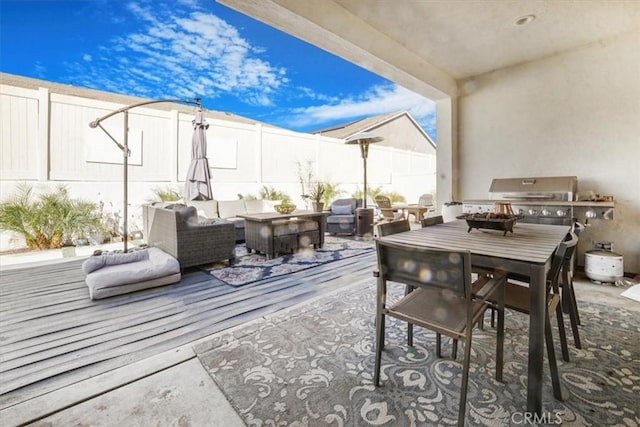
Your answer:
[[[489,198],[573,201],[577,191],[578,177],[575,176],[495,178],[491,181]]]

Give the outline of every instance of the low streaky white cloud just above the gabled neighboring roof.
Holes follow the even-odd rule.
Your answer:
[[[294,109],[287,122],[295,127],[305,127],[402,110],[409,111],[423,127],[435,128],[435,103],[396,84],[374,86],[364,94],[339,102]]]

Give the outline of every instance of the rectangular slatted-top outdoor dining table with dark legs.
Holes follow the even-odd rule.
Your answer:
[[[553,254],[569,227],[516,224],[513,233],[506,235],[496,230],[468,229],[465,221],[456,220],[380,237],[380,240],[416,247],[468,250],[472,267],[501,269],[530,278],[527,411],[541,415],[546,277]]]

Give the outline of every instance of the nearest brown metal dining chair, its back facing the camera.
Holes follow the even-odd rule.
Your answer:
[[[464,341],[464,361],[458,405],[458,426],[464,426],[471,359],[472,330],[482,317],[489,298],[497,300],[496,380],[502,381],[504,347],[505,275],[482,276],[482,299],[472,295],[471,254],[376,241],[378,284],[376,307],[376,359],[374,385],[380,385],[380,365],[385,340],[385,317]],[[387,306],[387,282],[415,288],[397,303]]]

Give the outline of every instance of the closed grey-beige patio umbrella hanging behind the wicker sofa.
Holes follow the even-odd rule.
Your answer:
[[[191,140],[191,163],[185,182],[185,200],[211,200],[211,174],[207,160],[207,129],[209,124],[202,111],[193,119],[193,138]]]

